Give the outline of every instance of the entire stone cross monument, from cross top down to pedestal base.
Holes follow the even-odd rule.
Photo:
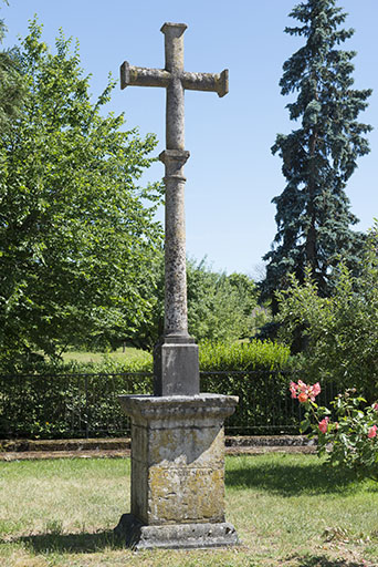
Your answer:
[[[199,395],[198,348],[188,334],[183,165],[185,89],[224,96],[228,71],[183,70],[185,23],[167,22],[164,70],[125,61],[120,86],[167,90],[165,164],[165,331],[155,350],[155,396],[120,396],[132,417],[132,516],[129,542],[140,548],[209,547],[235,543],[224,523],[223,421],[237,398]],[[139,524],[138,524],[139,523]],[[211,527],[209,527],[211,526]],[[119,528],[120,529],[120,528]],[[127,538],[126,538],[127,540]]]

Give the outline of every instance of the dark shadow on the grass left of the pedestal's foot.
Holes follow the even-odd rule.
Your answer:
[[[104,549],[125,548],[125,542],[116,536],[113,530],[97,532],[94,534],[40,534],[13,539],[12,543],[24,543],[35,553],[95,553]]]

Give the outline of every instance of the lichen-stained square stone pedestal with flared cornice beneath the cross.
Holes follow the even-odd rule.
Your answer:
[[[238,398],[123,395],[132,417],[132,513],[116,530],[137,549],[234,545],[224,519],[224,419]]]

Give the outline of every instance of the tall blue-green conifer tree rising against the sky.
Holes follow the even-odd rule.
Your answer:
[[[303,281],[306,266],[319,295],[329,295],[338,259],[343,257],[355,268],[364,240],[360,233],[350,229],[357,218],[350,213],[345,187],[357,167],[357,157],[369,152],[364,134],[371,126],[359,123],[357,116],[366,109],[371,90],[353,87],[356,52],[338,45],[354,30],[340,29],[347,14],[336,3],[303,1],[290,14],[300,24],[285,29],[306,40],[284,63],[280,82],[283,95],[297,93],[287,109],[291,120],[301,126],[288,135],[279,134],[272,147],[283,159],[287,185],[273,199],[277,234],[272,250],[264,256],[265,297],[284,288],[290,272]]]

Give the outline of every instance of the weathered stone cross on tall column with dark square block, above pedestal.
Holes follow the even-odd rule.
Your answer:
[[[191,73],[183,70],[185,23],[165,23],[165,69],[120,66],[120,87],[162,86],[167,90],[166,150],[159,155],[165,164],[165,330],[155,351],[155,394],[196,395],[199,393],[198,347],[188,333],[185,182],[185,90],[212,91],[224,96],[229,72]]]

